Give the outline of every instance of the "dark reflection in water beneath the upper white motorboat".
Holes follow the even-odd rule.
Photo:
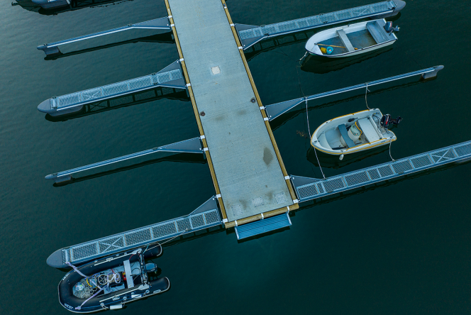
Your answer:
[[[305,72],[324,74],[331,71],[343,69],[350,65],[355,65],[355,63],[359,63],[372,57],[376,57],[384,52],[388,52],[389,50],[392,50],[392,47],[385,47],[378,50],[373,50],[372,52],[365,52],[361,55],[355,55],[352,57],[330,58],[328,60],[320,56],[308,55],[301,63],[301,70]]]

